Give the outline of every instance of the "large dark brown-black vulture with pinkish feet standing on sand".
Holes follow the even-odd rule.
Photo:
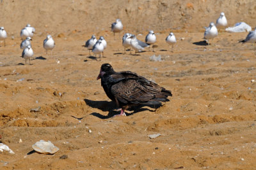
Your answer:
[[[117,107],[121,107],[120,114],[116,116],[125,116],[125,110],[132,105],[161,104],[170,101],[168,97],[172,97],[172,91],[148,81],[137,73],[115,72],[108,63],[100,67],[97,80],[99,79],[106,95],[116,102]]]

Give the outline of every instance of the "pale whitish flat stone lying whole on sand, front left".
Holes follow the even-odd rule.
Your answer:
[[[54,144],[52,144],[51,141],[45,142],[44,140],[36,142],[35,144],[32,145],[32,148],[35,151],[44,154],[54,154],[56,153],[56,151],[59,150],[59,148],[54,146]]]

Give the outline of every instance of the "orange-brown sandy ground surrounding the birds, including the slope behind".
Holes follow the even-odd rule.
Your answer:
[[[0,152],[0,169],[255,169],[256,52],[238,43],[246,32],[219,30],[210,46],[203,39],[221,12],[228,26],[243,21],[254,30],[255,1],[24,0],[3,1],[0,10],[8,34],[6,47],[0,44],[0,140],[15,152]],[[118,18],[124,31],[114,37]],[[31,65],[20,57],[28,23],[36,29]],[[124,33],[144,41],[150,29],[155,52],[124,51]],[[165,42],[170,31],[173,52]],[[48,34],[52,56],[43,48]],[[100,61],[83,47],[92,35],[108,42]],[[162,61],[150,61],[153,55]],[[113,118],[116,105],[96,80],[103,63],[155,81],[173,97]],[[41,139],[60,150],[34,152]]]

